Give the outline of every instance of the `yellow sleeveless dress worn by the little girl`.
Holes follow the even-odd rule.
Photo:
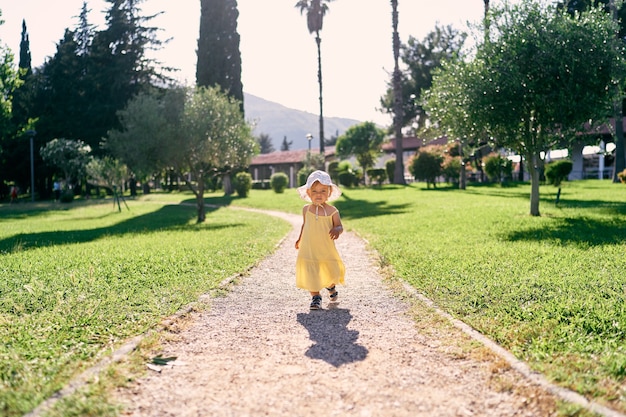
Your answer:
[[[307,208],[296,260],[296,286],[313,292],[343,284],[346,274],[335,241],[328,234],[333,228],[332,213],[325,214],[316,215]]]

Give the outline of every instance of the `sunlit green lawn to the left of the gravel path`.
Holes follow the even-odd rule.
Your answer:
[[[124,340],[244,272],[289,229],[226,209],[196,224],[181,195],[146,200],[122,212],[97,202],[0,208],[0,414],[30,411]]]

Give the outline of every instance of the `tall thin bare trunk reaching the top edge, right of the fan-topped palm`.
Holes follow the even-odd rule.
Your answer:
[[[398,34],[398,0],[391,0],[391,20],[393,25],[393,129],[396,138],[396,168],[393,175],[394,184],[406,184],[404,180],[404,150],[402,149],[402,72],[398,65],[400,58],[400,35]]]

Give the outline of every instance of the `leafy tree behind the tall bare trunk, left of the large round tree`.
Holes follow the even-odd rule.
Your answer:
[[[441,67],[444,61],[461,59],[466,38],[465,33],[451,26],[436,26],[421,42],[410,36],[408,43],[400,46],[402,62],[407,68],[401,77],[403,127],[416,125],[418,130],[424,128],[427,114],[422,106],[422,93],[431,87],[434,69]],[[380,104],[385,112],[393,114],[393,84],[381,97]]]

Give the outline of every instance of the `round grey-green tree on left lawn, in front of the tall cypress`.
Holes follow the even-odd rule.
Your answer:
[[[156,99],[139,95],[120,114],[121,128],[109,133],[106,146],[132,170],[147,172],[151,163],[153,171],[171,167],[194,193],[198,222],[204,222],[209,178],[241,170],[258,152],[239,104],[219,87],[177,89]],[[129,145],[137,140],[142,144]]]

